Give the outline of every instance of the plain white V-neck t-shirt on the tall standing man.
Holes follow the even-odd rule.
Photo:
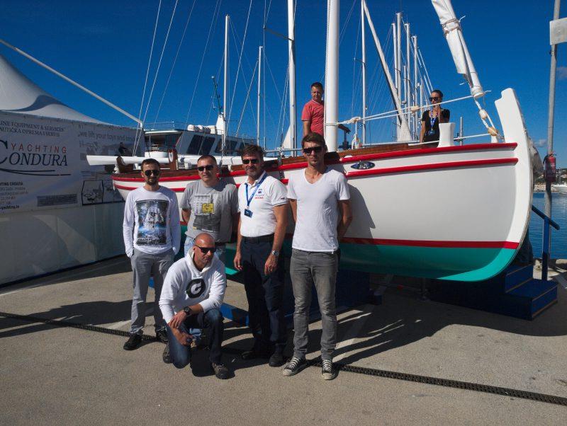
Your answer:
[[[339,248],[339,200],[349,200],[347,178],[332,168],[315,183],[309,183],[305,171],[291,175],[288,198],[297,200],[296,230],[291,246],[303,251],[332,253]]]

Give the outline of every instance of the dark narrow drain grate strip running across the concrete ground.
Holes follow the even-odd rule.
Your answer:
[[[129,333],[123,330],[113,330],[111,328],[99,327],[99,326],[90,326],[86,324],[79,324],[73,323],[72,321],[66,320],[54,320],[48,318],[41,318],[39,316],[32,316],[32,315],[20,315],[18,313],[8,313],[8,312],[0,312],[0,316],[4,318],[11,318],[26,322],[33,322],[33,323],[44,323],[50,326],[57,326],[57,327],[69,327],[69,328],[78,328],[79,330],[86,330],[86,331],[95,331],[96,333],[104,333],[104,334],[111,334],[111,335],[119,335],[122,337],[128,337]],[[153,335],[142,335],[143,341],[157,341],[155,336]],[[228,347],[223,347],[223,352],[232,354],[232,355],[240,355],[243,350],[236,350]],[[321,366],[321,359],[311,359],[308,361],[308,365],[310,367],[322,367]],[[513,388],[503,388],[500,386],[490,386],[486,384],[478,384],[472,383],[468,381],[459,381],[459,380],[451,380],[451,379],[442,379],[439,377],[431,377],[431,376],[420,376],[418,374],[408,374],[408,373],[400,373],[400,372],[391,372],[388,370],[381,370],[381,369],[371,369],[366,367],[357,367],[352,364],[342,364],[342,363],[335,363],[335,367],[342,372],[349,372],[349,373],[356,373],[356,374],[364,374],[366,376],[375,376],[375,377],[383,377],[385,379],[395,379],[395,380],[403,380],[403,381],[413,381],[415,383],[422,383],[422,384],[430,384],[434,386],[444,386],[447,388],[456,388],[462,389],[464,391],[476,391],[476,392],[483,392],[483,393],[492,393],[493,395],[501,395],[501,396],[508,396],[510,398],[520,398],[520,399],[527,399],[529,401],[538,401],[541,403],[549,403],[554,405],[565,405],[567,406],[567,398],[563,396],[556,396],[556,395],[548,395],[546,393],[537,393],[537,392],[529,392],[529,391],[521,391],[520,389],[513,389]]]

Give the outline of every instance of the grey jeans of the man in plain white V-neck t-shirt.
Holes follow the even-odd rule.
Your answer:
[[[338,256],[336,253],[301,251],[291,252],[290,275],[296,310],[293,312],[293,356],[305,358],[308,345],[311,287],[315,284],[321,312],[321,358],[332,361],[337,343],[337,311],[335,285]]]

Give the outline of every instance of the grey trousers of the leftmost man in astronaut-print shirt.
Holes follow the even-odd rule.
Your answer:
[[[130,326],[130,334],[142,334],[146,321],[146,296],[147,287],[150,284],[150,277],[154,277],[154,320],[155,329],[165,328],[165,321],[162,311],[159,309],[159,296],[162,294],[162,285],[164,283],[167,270],[173,264],[173,250],[150,255],[134,249],[134,253],[130,258],[132,270],[134,272],[134,295],[132,297],[132,325]]]

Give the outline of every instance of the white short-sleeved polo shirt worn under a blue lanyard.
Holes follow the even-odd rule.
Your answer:
[[[258,183],[266,176],[264,181],[256,190]],[[248,197],[254,198],[248,202],[246,200],[246,187],[248,187]],[[274,234],[276,231],[276,215],[274,207],[287,204],[288,197],[286,187],[276,178],[266,175],[266,172],[249,185],[248,180],[238,188],[238,209],[240,211],[240,234],[247,237],[263,236]],[[249,207],[252,217],[245,215],[245,209]]]

